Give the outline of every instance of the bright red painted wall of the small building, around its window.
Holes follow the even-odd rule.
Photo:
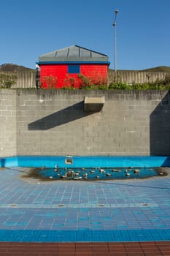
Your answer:
[[[68,74],[68,64],[41,64],[40,81],[43,88],[69,87],[79,88],[82,80],[78,74]],[[92,83],[107,83],[107,64],[80,64],[80,73],[90,78]]]

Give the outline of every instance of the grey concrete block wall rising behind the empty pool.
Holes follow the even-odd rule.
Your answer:
[[[1,89],[1,157],[169,155],[169,91]],[[105,97],[98,113],[84,97]]]

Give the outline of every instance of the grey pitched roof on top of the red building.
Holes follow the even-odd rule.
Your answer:
[[[109,58],[107,55],[82,48],[78,45],[72,45],[60,50],[54,50],[50,53],[39,56],[39,62],[108,62],[108,60]]]

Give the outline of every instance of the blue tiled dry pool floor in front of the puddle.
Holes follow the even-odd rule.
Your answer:
[[[170,176],[39,181],[0,170],[0,241],[170,241]]]

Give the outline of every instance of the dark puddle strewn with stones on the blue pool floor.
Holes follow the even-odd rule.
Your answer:
[[[31,168],[23,178],[36,178],[40,181],[54,180],[110,180],[110,179],[131,179],[150,178],[153,176],[166,176],[165,167],[56,167],[56,168]]]

